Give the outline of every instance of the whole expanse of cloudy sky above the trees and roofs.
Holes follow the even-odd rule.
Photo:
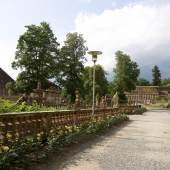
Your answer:
[[[170,0],[0,0],[0,67],[15,79],[11,62],[24,26],[46,21],[60,44],[76,31],[89,50],[102,51],[97,63],[110,80],[117,50],[139,64],[140,77],[151,79],[153,65],[170,77],[169,18]]]

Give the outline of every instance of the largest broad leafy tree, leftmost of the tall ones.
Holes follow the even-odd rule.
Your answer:
[[[38,82],[46,88],[54,70],[57,72],[59,43],[46,22],[25,27],[27,30],[19,37],[12,67],[21,69],[16,82],[19,89],[30,92]]]

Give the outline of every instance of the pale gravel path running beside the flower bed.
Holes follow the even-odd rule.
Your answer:
[[[170,111],[130,118],[128,124],[74,146],[36,170],[170,170]]]

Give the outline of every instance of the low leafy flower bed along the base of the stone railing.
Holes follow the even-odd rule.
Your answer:
[[[50,150],[61,149],[63,146],[78,141],[82,135],[95,134],[127,120],[128,117],[124,114],[91,119],[89,122],[78,126],[58,127],[53,133],[48,135],[39,133],[35,136],[25,138],[13,146],[0,146],[0,169],[9,169],[12,164],[13,166],[15,164],[21,166],[24,163],[24,159],[28,165],[28,161],[31,160],[32,155],[37,155],[34,158],[44,159]],[[38,156],[39,152],[41,156]]]

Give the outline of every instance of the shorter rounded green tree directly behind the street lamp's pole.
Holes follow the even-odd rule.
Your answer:
[[[82,79],[84,82],[84,96],[88,102],[92,101],[93,88],[93,68],[85,67]],[[108,92],[108,81],[106,72],[101,65],[95,66],[95,94],[96,96],[104,96]]]

